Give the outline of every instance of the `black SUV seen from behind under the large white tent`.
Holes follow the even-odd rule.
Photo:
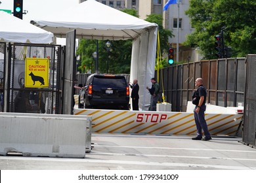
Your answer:
[[[125,76],[90,75],[84,90],[85,108],[129,109],[129,86]]]

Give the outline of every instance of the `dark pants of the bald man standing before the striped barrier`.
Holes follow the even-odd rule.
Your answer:
[[[206,109],[206,105],[202,105],[200,107],[200,110],[198,113],[196,113],[196,108],[197,106],[194,108],[194,118],[195,118],[195,122],[196,122],[196,129],[197,129],[197,135],[199,137],[202,137],[202,129],[204,132],[205,137],[211,137],[209,131],[208,131],[208,127],[207,124],[205,122],[205,118],[204,118],[204,112]]]

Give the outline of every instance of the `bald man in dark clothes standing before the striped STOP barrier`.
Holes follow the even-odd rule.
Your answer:
[[[197,90],[192,95],[192,103],[196,105],[194,108],[194,119],[196,122],[197,136],[193,137],[192,140],[202,140],[209,141],[211,140],[211,135],[208,131],[208,127],[205,121],[205,110],[206,110],[206,90],[203,87],[203,79],[197,78],[195,86],[198,87]],[[202,139],[202,129],[205,137]]]

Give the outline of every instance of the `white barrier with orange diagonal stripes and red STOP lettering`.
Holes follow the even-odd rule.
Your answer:
[[[230,109],[231,110],[231,109]],[[77,108],[75,115],[92,116],[92,132],[150,133],[157,135],[196,135],[194,112],[103,110]],[[236,135],[243,114],[208,113],[205,120],[211,135]]]

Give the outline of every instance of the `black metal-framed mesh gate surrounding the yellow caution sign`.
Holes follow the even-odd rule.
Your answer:
[[[18,92],[27,92],[29,96],[36,95],[37,103],[32,113],[60,114],[62,108],[62,70],[63,63],[61,53],[63,47],[56,44],[30,44],[30,43],[9,43],[7,46],[8,60],[5,61],[5,112],[15,112],[14,98]],[[23,88],[22,77],[25,69],[26,58],[49,58],[49,87],[48,88]],[[23,73],[22,73],[23,71]],[[17,75],[19,73],[19,75]],[[20,79],[19,79],[20,76]],[[47,100],[46,100],[47,99]],[[35,101],[35,100],[34,100]],[[42,102],[41,102],[42,101]],[[44,103],[46,108],[41,107]],[[42,105],[43,106],[43,105]],[[26,107],[26,106],[24,106]],[[42,112],[42,110],[45,110]]]

